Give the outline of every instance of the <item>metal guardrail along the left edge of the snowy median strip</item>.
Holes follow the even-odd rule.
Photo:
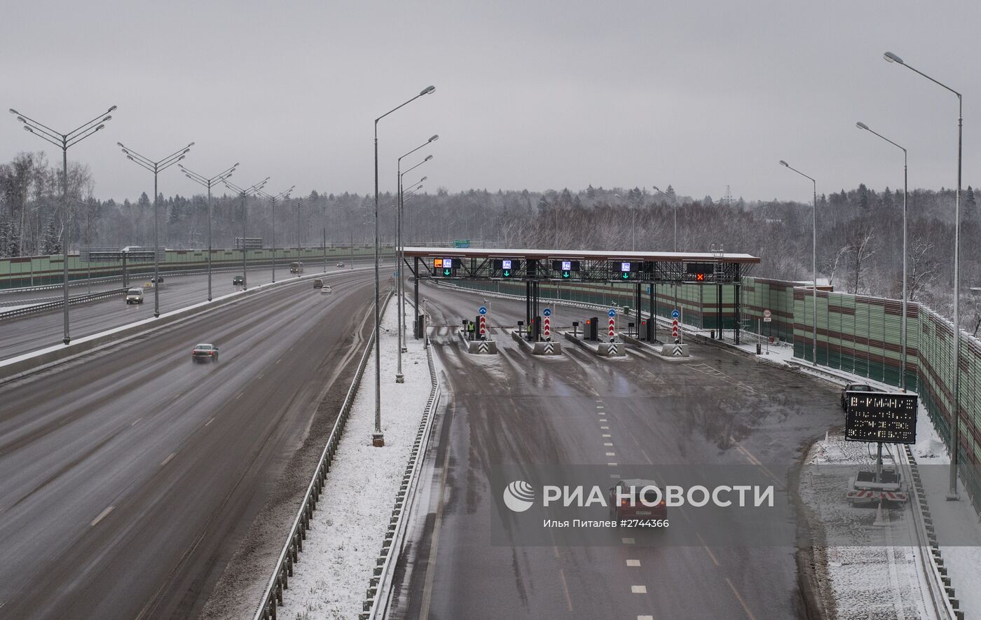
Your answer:
[[[383,303],[383,308],[387,305],[391,294],[391,291],[389,291]],[[277,607],[283,604],[283,591],[289,589],[289,578],[293,576],[293,565],[298,561],[298,554],[303,551],[303,541],[306,540],[307,530],[310,529],[310,520],[313,518],[313,511],[317,509],[317,503],[320,501],[320,493],[324,490],[324,484],[327,480],[327,473],[331,471],[331,463],[334,462],[337,446],[340,443],[340,435],[343,433],[344,426],[347,424],[347,418],[350,416],[351,406],[354,404],[354,397],[357,395],[358,388],[361,386],[361,379],[364,377],[365,367],[368,365],[368,359],[371,356],[372,346],[374,344],[375,334],[373,332],[368,337],[364,353],[361,354],[361,360],[358,362],[357,370],[354,373],[354,379],[351,381],[350,388],[347,389],[347,395],[344,396],[344,402],[340,405],[340,412],[337,414],[334,428],[331,430],[331,435],[327,439],[327,445],[324,447],[324,452],[320,456],[320,462],[317,463],[317,468],[314,470],[310,485],[307,487],[306,494],[300,502],[299,510],[296,512],[296,518],[293,519],[293,525],[289,528],[289,534],[286,536],[283,551],[280,552],[280,558],[277,560],[276,566],[273,569],[273,575],[270,577],[266,591],[259,601],[259,607],[256,609],[254,620],[277,620]]]

